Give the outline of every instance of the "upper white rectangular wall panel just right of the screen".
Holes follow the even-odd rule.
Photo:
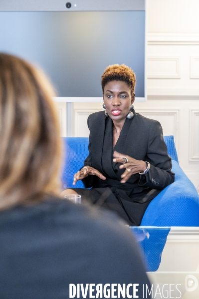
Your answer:
[[[164,78],[164,79],[180,79],[181,78],[181,72],[180,72],[180,66],[181,66],[181,57],[180,56],[148,56],[148,61],[159,61],[159,64],[161,66],[161,61],[175,61],[176,62],[176,67],[175,70],[168,73],[168,72],[164,72],[164,65],[162,65],[162,67],[160,67],[160,71],[159,72],[151,72],[147,74],[147,78]],[[149,67],[148,67],[149,69]],[[153,68],[155,69],[155,67]]]

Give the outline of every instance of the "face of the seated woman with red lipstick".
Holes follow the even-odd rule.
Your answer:
[[[126,82],[114,80],[105,85],[103,100],[110,118],[124,121],[135,100],[135,95],[131,95],[131,89]]]

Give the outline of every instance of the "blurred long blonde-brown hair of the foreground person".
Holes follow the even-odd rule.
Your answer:
[[[59,192],[54,90],[41,70],[0,53],[0,209]]]

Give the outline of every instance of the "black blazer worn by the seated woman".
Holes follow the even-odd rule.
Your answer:
[[[169,184],[173,183],[175,174],[171,171],[171,157],[168,156],[161,124],[156,120],[136,113],[135,110],[133,110],[133,113],[133,119],[128,120],[131,121],[131,124],[125,142],[121,145],[120,152],[137,160],[148,161],[151,164],[147,174],[134,174],[125,183],[128,188],[135,188],[135,193],[146,191],[146,188],[148,188],[149,196],[145,196],[141,201],[139,200],[139,202],[146,202],[154,198]],[[88,117],[88,128],[90,130],[89,155],[84,161],[84,166],[92,166],[101,173],[103,173],[102,149],[105,123],[106,116],[104,111],[93,113]],[[113,168],[115,167],[119,167],[118,163],[115,163],[115,165],[113,163]],[[111,185],[110,180],[103,181],[96,176],[88,176],[83,180],[83,183],[86,188],[105,187],[106,183]],[[125,184],[121,184],[121,186],[124,187]],[[154,189],[154,192],[152,189]]]

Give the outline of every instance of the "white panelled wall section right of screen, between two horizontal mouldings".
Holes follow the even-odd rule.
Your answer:
[[[149,33],[148,95],[199,97],[198,57],[199,33]]]

